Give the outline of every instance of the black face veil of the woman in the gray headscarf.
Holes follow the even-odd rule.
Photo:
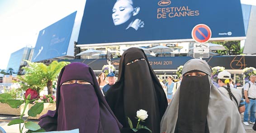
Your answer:
[[[183,76],[175,133],[209,132],[207,127],[209,96],[208,75]]]

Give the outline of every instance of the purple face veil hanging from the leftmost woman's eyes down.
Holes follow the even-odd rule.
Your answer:
[[[79,128],[86,132],[98,131],[95,125],[98,125],[100,119],[99,101],[94,87],[89,82],[66,81],[60,87],[60,94],[57,130]],[[85,108],[81,108],[83,106]],[[81,125],[84,122],[86,124]]]

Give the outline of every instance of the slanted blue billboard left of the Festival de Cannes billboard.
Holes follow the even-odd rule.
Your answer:
[[[41,30],[34,48],[32,62],[67,55],[76,12]]]

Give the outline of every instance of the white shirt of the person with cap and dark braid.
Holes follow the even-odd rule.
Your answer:
[[[227,85],[224,85],[224,87],[227,87]],[[222,94],[224,94],[225,96],[228,97],[228,99],[230,99],[229,95],[228,95],[228,91],[224,88],[224,87],[218,87],[219,91],[222,92]],[[234,100],[234,98],[232,97],[232,101],[234,102],[234,104],[237,106],[240,105],[240,101],[242,100],[242,92],[239,89],[230,87],[230,90],[232,92],[232,94],[236,97],[237,102]],[[238,108],[238,106],[237,106]]]

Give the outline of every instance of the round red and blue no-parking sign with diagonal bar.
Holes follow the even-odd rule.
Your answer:
[[[192,29],[191,35],[194,41],[205,43],[212,37],[212,31],[207,25],[198,24]]]

